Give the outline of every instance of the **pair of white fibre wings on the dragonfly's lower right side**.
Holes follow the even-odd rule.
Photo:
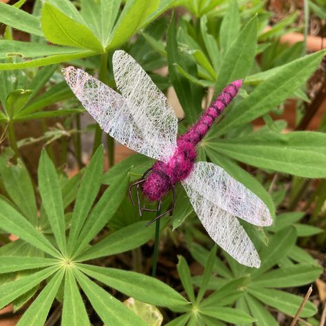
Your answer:
[[[271,225],[263,201],[213,163],[197,162],[182,184],[208,235],[239,263],[258,268],[257,251],[237,217]]]

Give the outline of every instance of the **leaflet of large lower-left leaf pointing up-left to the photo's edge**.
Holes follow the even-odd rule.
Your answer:
[[[60,252],[54,248],[52,243],[2,198],[0,198],[0,206],[0,228],[2,230],[17,235],[17,237],[30,243],[32,246],[54,257],[61,257]]]

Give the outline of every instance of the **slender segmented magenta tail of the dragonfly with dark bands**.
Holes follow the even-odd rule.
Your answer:
[[[208,107],[202,114],[202,117],[191,127],[186,133],[180,136],[179,141],[191,142],[196,145],[204,138],[208,129],[212,126],[215,119],[221,115],[224,109],[235,98],[239,88],[242,85],[242,80],[235,80],[226,86],[219,97],[213,102],[213,105]]]

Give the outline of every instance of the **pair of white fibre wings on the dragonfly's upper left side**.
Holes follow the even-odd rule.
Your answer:
[[[121,94],[86,72],[63,69],[69,87],[100,128],[121,144],[155,160],[167,160],[177,142],[177,117],[160,89],[124,51],[113,54]]]

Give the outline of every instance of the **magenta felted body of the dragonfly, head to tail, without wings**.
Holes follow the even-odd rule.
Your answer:
[[[193,170],[197,157],[196,146],[204,138],[213,122],[237,95],[242,80],[235,80],[221,92],[202,117],[186,133],[177,139],[173,156],[166,162],[157,161],[151,174],[142,185],[142,192],[151,201],[159,201],[177,182],[183,181]]]

